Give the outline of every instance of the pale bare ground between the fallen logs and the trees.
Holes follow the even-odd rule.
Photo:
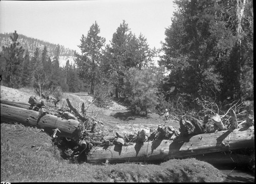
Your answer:
[[[1,86],[1,100],[8,99],[11,101],[28,103],[29,98],[32,95],[40,99],[40,97],[34,93],[33,89],[13,89],[6,86]],[[87,107],[93,101],[93,97],[90,95],[78,96],[70,93],[63,93],[60,97],[60,102],[57,104],[59,108],[68,108],[68,104],[66,102],[67,98],[70,100],[72,105],[74,105],[74,107],[76,107],[80,111],[82,103],[84,103],[84,105]],[[45,101],[45,99],[41,100]],[[165,123],[166,125],[171,125],[177,130],[179,129],[178,122],[164,122],[161,117],[156,113],[149,113],[147,117],[141,114],[135,114],[129,111],[126,106],[118,101],[113,101],[113,105],[106,109],[97,107],[92,104],[87,110],[89,111],[89,115],[94,116],[95,118],[104,123],[103,128],[109,130],[110,135],[116,135],[116,131],[123,132],[124,134],[129,134],[138,132],[141,129],[144,129],[146,133],[148,133],[150,132],[150,129],[157,129],[158,125],[162,123]]]

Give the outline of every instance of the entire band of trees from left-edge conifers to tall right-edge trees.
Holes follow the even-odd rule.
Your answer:
[[[86,86],[102,103],[110,96],[123,97],[131,110],[146,115],[154,109],[193,108],[196,98],[216,103],[253,100],[252,1],[174,3],[177,10],[164,33],[159,66],[153,62],[159,51],[142,34],[132,33],[125,20],[106,45],[95,21],[81,36],[75,64],[67,61],[64,68],[58,63],[59,45],[52,60],[47,47],[37,48],[30,58],[15,32],[10,47],[2,51],[4,82],[13,87],[61,86],[64,91]]]

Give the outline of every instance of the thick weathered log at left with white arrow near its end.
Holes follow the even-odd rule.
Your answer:
[[[61,119],[50,114],[1,103],[1,122],[8,121],[43,128],[50,134],[58,129],[60,132],[56,133],[57,136],[67,137],[74,141],[77,141],[81,134],[78,128],[79,122],[76,120]]]

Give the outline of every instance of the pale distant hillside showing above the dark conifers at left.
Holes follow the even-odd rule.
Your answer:
[[[9,47],[11,44],[11,38],[12,33],[0,33],[0,52],[2,51],[2,47]],[[34,54],[35,49],[38,47],[40,52],[44,49],[44,47],[47,47],[48,55],[53,58],[55,48],[57,47],[57,44],[50,43],[48,41],[39,40],[36,38],[28,37],[23,34],[18,34],[18,42],[22,45],[22,47],[25,50],[29,51],[30,56]],[[69,48],[65,48],[63,45],[60,45],[60,54],[59,54],[59,65],[61,67],[66,65],[66,61],[69,60],[71,64],[74,63],[74,50],[71,50]]]

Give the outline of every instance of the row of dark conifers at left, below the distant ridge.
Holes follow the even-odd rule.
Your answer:
[[[18,42],[16,31],[10,36],[12,43],[2,47],[1,74],[2,84],[19,88],[33,87],[40,95],[61,93],[61,91],[78,92],[84,90],[84,85],[78,77],[78,69],[67,61],[66,67],[59,66],[60,45],[55,48],[53,59],[49,56],[47,46],[38,47],[32,56]],[[47,94],[48,93],[48,94]],[[58,95],[58,94],[56,94]]]

